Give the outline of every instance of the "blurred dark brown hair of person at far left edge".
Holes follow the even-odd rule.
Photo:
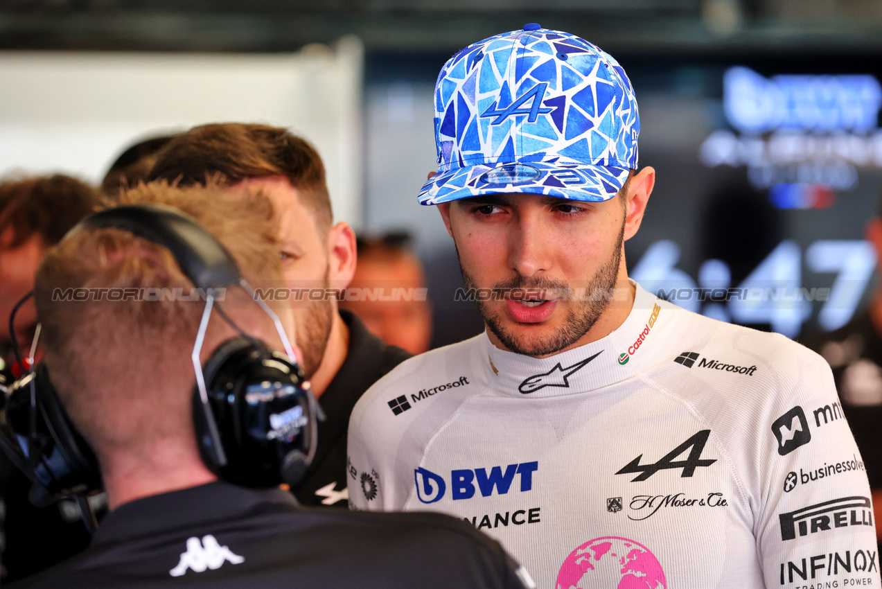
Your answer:
[[[85,218],[100,201],[98,191],[68,175],[50,175],[0,183],[0,234],[11,227],[16,248],[34,235],[53,245]]]

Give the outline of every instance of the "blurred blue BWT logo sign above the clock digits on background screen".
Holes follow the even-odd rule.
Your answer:
[[[747,167],[781,209],[827,208],[853,190],[857,168],[882,168],[882,86],[870,75],[764,78],[745,67],[723,77],[733,130],[715,130],[699,157],[709,168]]]

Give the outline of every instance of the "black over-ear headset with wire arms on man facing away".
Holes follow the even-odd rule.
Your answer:
[[[244,486],[295,485],[315,454],[320,409],[279,317],[241,278],[221,243],[183,212],[160,205],[120,206],[83,220],[68,235],[102,228],[123,229],[165,246],[184,275],[205,293],[191,359],[197,380],[193,417],[206,465],[223,480]],[[273,319],[287,355],[246,335],[219,305],[221,317],[241,336],[221,344],[202,366],[199,352],[214,293],[236,285]],[[34,482],[31,500],[45,504],[74,497],[83,509],[85,496],[102,487],[101,471],[42,362],[11,386],[6,421],[14,439],[0,432],[0,449]]]

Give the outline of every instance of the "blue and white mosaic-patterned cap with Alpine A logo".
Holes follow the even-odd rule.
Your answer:
[[[579,37],[524,26],[452,56],[435,86],[438,171],[421,205],[500,193],[599,202],[637,168],[631,81]]]

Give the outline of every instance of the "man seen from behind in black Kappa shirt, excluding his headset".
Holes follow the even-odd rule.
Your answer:
[[[123,204],[176,206],[230,252],[250,282],[280,280],[278,228],[262,194],[152,183]],[[439,514],[303,510],[279,488],[219,481],[193,420],[193,337],[203,304],[53,300],[91,289],[189,285],[165,247],[116,228],[82,228],[49,250],[35,283],[46,365],[101,465],[110,513],[92,545],[27,587],[475,587],[523,589],[495,541]],[[240,287],[217,303],[200,360],[239,332],[280,349],[270,318]],[[273,302],[289,331],[287,302]]]

